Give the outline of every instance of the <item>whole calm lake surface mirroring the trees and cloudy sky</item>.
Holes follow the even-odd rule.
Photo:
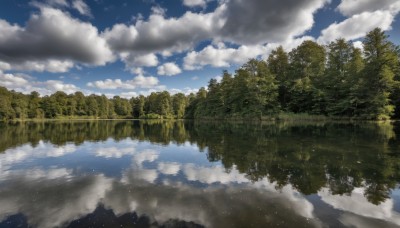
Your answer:
[[[399,227],[400,125],[0,123],[0,227]]]

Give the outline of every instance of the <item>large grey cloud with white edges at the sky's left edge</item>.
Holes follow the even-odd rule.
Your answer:
[[[0,34],[0,61],[16,69],[59,72],[72,61],[104,65],[114,59],[96,27],[59,9],[41,7],[26,27],[0,20]]]

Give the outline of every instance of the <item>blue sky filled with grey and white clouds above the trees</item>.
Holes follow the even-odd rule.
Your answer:
[[[380,27],[400,43],[400,0],[7,0],[0,86],[130,98],[189,94],[282,45]]]

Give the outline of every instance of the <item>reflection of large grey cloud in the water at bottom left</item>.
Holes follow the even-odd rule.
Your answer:
[[[79,177],[66,182],[62,176],[63,170],[49,170],[44,173],[33,170],[33,172],[39,175],[61,176],[40,182],[26,181],[23,176],[13,180],[11,188],[3,188],[0,191],[2,205],[0,220],[9,215],[22,213],[28,217],[30,225],[44,228],[60,227],[92,213],[105,198],[106,193],[112,189],[112,180],[104,175]],[[59,187],[60,183],[63,185],[62,188]],[[26,191],[35,189],[44,191],[36,191],[35,197],[38,200],[32,204],[29,200],[32,195],[26,194]],[[48,194],[49,192],[60,194]]]

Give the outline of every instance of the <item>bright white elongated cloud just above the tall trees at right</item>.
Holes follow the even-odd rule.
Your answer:
[[[371,20],[373,18],[373,20]],[[333,23],[322,30],[318,41],[329,43],[337,38],[353,40],[365,36],[376,27],[383,30],[391,28],[394,16],[388,11],[364,12],[348,18],[340,23]]]

